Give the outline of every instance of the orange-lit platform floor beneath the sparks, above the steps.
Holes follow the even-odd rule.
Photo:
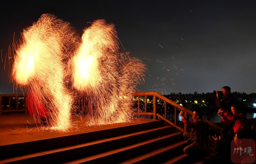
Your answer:
[[[139,124],[153,121],[152,119],[134,119],[130,123],[115,123],[101,126],[85,126],[81,117],[73,118],[75,124],[68,132],[59,132],[42,128],[41,125],[34,121],[33,117],[25,114],[3,115],[0,116],[0,146],[16,143],[23,143],[34,140],[55,138],[74,134],[88,133],[105,129]]]

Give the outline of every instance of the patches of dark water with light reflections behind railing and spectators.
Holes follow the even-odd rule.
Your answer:
[[[256,113],[246,113],[247,119],[256,118]],[[219,123],[222,121],[221,116],[217,115],[217,113],[203,113],[203,118],[210,120],[213,123]],[[174,121],[174,112],[167,114],[167,119]],[[177,119],[181,121],[180,111],[177,110]],[[189,116],[189,120],[192,120],[191,116]]]

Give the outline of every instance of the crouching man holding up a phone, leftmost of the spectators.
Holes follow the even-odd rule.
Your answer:
[[[183,151],[186,154],[203,154],[204,150],[208,149],[206,131],[209,129],[208,125],[202,120],[202,112],[198,109],[194,110],[192,114],[193,121],[188,121],[184,117],[183,111],[180,112],[182,122],[190,129],[189,132],[184,132],[183,137],[190,140],[190,145],[186,146]]]

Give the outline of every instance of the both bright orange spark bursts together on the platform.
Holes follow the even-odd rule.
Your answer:
[[[34,117],[47,118],[52,129],[71,127],[72,100],[83,97],[87,125],[131,120],[132,93],[145,65],[118,53],[114,25],[96,20],[80,38],[53,15],[43,14],[24,29],[16,45],[12,79],[28,93]]]

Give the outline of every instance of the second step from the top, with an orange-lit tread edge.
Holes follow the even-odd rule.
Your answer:
[[[49,161],[55,161],[56,163],[58,163],[60,161],[66,161],[73,158],[81,158],[85,155],[90,155],[93,153],[118,148],[120,146],[129,145],[139,142],[141,140],[166,135],[172,133],[173,130],[174,129],[172,126],[161,126],[154,129],[148,129],[111,138],[102,138],[83,144],[75,144],[72,146],[44,150],[25,154],[22,156],[15,156],[12,158],[0,160],[0,163],[47,163]]]

